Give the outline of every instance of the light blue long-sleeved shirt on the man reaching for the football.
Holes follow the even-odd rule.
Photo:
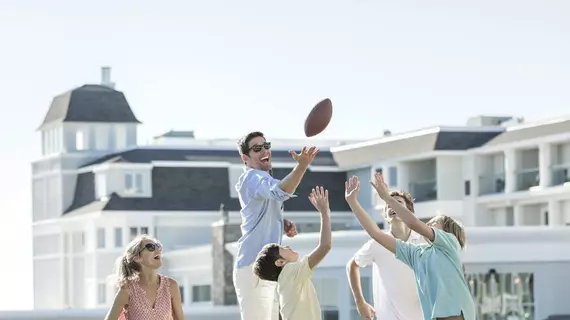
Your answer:
[[[283,201],[293,197],[279,187],[279,180],[269,173],[247,168],[236,184],[241,204],[241,238],[235,267],[255,261],[263,246],[281,244],[283,237]]]

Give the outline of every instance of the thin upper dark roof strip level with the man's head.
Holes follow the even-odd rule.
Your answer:
[[[273,150],[271,155],[273,162],[293,162],[288,151]],[[235,150],[216,150],[137,147],[106,155],[83,167],[103,163],[151,163],[152,161],[227,161],[241,163],[241,158],[237,148]],[[336,166],[337,164],[330,151],[320,151],[313,161],[313,165]]]

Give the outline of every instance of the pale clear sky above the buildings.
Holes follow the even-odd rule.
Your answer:
[[[35,129],[100,66],[143,121],[141,142],[172,128],[302,138],[323,97],[335,109],[322,137],[377,137],[569,114],[568,17],[565,0],[0,0],[0,309],[32,306]]]

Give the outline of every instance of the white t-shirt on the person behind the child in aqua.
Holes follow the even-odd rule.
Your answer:
[[[424,237],[413,231],[408,242],[426,243]],[[396,259],[394,253],[371,239],[356,252],[354,261],[362,268],[373,264],[372,286],[377,319],[423,319],[414,272]]]

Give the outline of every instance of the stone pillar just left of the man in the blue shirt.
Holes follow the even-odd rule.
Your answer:
[[[241,237],[237,224],[230,224],[229,212],[220,205],[222,219],[212,225],[212,301],[215,306],[237,305],[233,283],[234,256],[226,244]]]

